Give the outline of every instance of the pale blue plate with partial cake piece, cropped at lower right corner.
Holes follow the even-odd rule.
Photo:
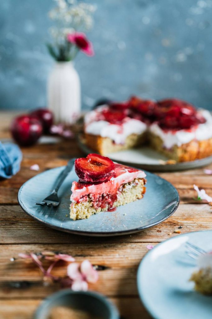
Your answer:
[[[144,306],[155,319],[211,319],[212,297],[194,291],[188,281],[196,261],[186,242],[212,250],[212,231],[178,235],[150,250],[138,269],[137,285]]]

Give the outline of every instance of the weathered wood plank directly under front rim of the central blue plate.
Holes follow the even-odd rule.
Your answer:
[[[132,235],[95,238],[77,236],[48,228],[28,216],[19,206],[0,206],[0,243],[85,243],[85,242],[160,242],[179,226],[181,233],[212,229],[212,210],[208,204],[180,204],[177,211],[160,225]],[[169,235],[171,233],[171,235]]]

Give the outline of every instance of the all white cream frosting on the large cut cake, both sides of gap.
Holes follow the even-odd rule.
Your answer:
[[[111,124],[103,118],[101,119],[103,109],[108,109],[108,106],[103,105],[85,115],[85,132],[101,137],[109,137],[116,144],[124,143],[126,137],[130,134],[142,134],[146,130],[150,130],[150,132],[159,136],[163,140],[164,147],[168,149],[174,145],[181,146],[189,143],[193,139],[201,141],[212,137],[212,116],[207,110],[199,111],[206,119],[205,123],[189,130],[167,131],[161,129],[157,123],[151,124],[148,128],[144,122],[129,117],[121,125]]]

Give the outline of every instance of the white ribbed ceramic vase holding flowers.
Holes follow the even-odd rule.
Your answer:
[[[48,84],[48,108],[56,123],[71,124],[80,113],[80,79],[72,62],[56,62]]]

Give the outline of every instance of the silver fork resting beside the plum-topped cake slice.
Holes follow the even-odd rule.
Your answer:
[[[47,205],[47,206],[57,207],[60,204],[60,199],[57,195],[57,192],[58,192],[59,188],[61,187],[62,182],[66,178],[67,174],[72,169],[72,167],[74,165],[74,161],[75,161],[75,159],[70,159],[68,161],[68,164],[66,165],[66,167],[64,168],[64,170],[62,171],[62,173],[58,177],[58,180],[57,180],[57,183],[55,185],[54,190],[51,192],[51,194],[49,196],[44,198],[44,200],[41,203],[35,203],[36,205]]]

